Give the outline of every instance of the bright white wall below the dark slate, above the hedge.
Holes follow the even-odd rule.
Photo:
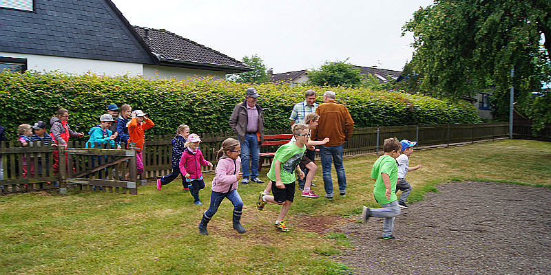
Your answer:
[[[105,74],[107,76],[119,76],[124,74],[137,76],[143,72],[143,65],[138,63],[100,61],[61,56],[41,56],[36,54],[14,54],[8,52],[0,52],[0,56],[26,58],[27,69],[38,72],[59,70],[60,72],[68,74],[87,74],[90,72],[93,74]]]

